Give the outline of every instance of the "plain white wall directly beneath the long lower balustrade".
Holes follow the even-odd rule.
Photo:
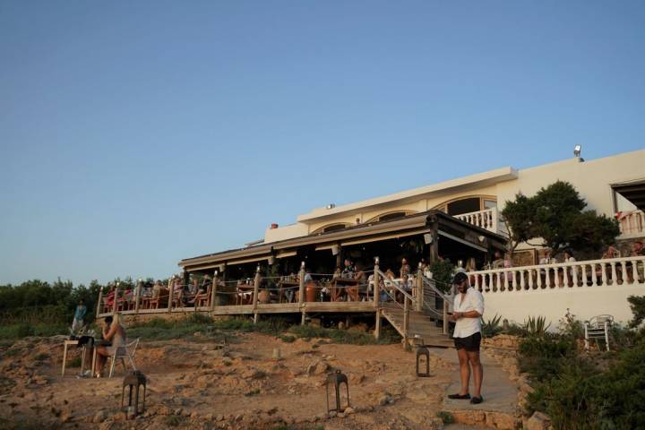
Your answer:
[[[599,314],[613,315],[618,323],[632,319],[627,297],[644,296],[645,284],[547,288],[517,291],[489,291],[484,295],[484,319],[502,315],[522,324],[529,316],[544,316],[555,329],[567,308],[581,321]]]

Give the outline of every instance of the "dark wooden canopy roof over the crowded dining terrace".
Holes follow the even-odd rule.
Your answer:
[[[310,270],[331,273],[344,258],[363,268],[374,264],[397,271],[405,257],[415,267],[421,259],[434,262],[440,255],[452,262],[474,257],[489,261],[495,250],[503,250],[506,239],[442,211],[425,211],[400,219],[361,224],[331,232],[295,237],[269,244],[247,246],[179,262],[185,277],[219,271],[228,279],[253,276],[255,266],[278,265],[278,272],[296,272],[300,262]]]

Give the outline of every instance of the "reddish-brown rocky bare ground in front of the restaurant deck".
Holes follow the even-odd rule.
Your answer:
[[[433,376],[417,378],[415,355],[400,345],[287,343],[258,333],[236,334],[228,348],[207,337],[144,342],[135,361],[148,377],[146,411],[127,420],[123,368],[112,379],[78,378],[78,368],[62,378],[63,339],[0,350],[0,428],[442,428],[437,412],[457,370],[433,354]],[[348,375],[351,409],[328,417],[325,380],[335,369]]]

